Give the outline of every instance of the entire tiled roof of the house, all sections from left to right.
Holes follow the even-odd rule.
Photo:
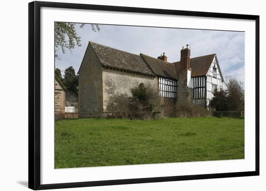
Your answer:
[[[170,63],[145,54],[132,54],[102,44],[89,42],[105,67],[147,75],[177,79],[180,61]],[[206,75],[215,54],[190,59],[192,77]]]

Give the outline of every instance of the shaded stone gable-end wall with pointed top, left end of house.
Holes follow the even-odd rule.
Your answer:
[[[78,80],[78,115],[102,112],[103,85],[102,64],[91,45],[88,45],[81,63]]]

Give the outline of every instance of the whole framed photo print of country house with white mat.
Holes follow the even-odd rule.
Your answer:
[[[29,188],[259,175],[259,16],[29,3]]]

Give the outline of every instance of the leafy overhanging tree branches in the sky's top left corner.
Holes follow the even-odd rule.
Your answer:
[[[84,28],[85,24],[80,24],[80,28]],[[75,23],[55,22],[55,57],[58,58],[56,52],[61,49],[65,53],[66,49],[72,51],[75,47],[81,46],[81,37],[76,32]],[[97,24],[91,24],[94,32],[100,31]]]

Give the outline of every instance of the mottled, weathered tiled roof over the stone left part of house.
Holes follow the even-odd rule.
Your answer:
[[[89,42],[103,66],[155,76],[140,55]]]

